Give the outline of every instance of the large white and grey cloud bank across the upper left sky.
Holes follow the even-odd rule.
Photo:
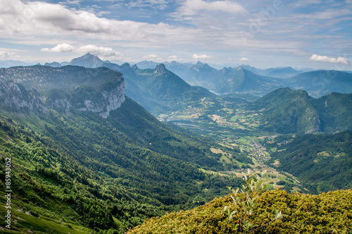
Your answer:
[[[191,32],[192,31],[192,32]],[[59,4],[37,1],[0,0],[2,37],[23,36],[84,39],[113,39],[141,42],[177,42],[188,40],[195,30],[130,20],[99,18],[94,13],[76,11]],[[191,33],[190,33],[191,32]]]

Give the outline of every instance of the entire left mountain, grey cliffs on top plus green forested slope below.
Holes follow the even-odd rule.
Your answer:
[[[16,230],[123,233],[145,218],[196,207],[224,195],[226,185],[239,185],[237,179],[203,173],[225,166],[210,151],[216,143],[157,121],[125,97],[120,73],[76,66],[1,72],[13,74],[1,78],[7,89],[1,99],[11,92],[14,98],[0,109],[0,155],[3,161],[11,157],[14,214],[29,220],[18,221]],[[40,92],[13,80],[27,86],[32,80]],[[33,100],[45,111],[25,108]],[[101,116],[94,101],[103,111],[116,101],[120,106]],[[56,225],[57,217],[62,221]]]

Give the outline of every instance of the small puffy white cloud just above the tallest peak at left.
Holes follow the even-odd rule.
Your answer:
[[[73,47],[70,44],[58,44],[53,48],[43,48],[40,51],[42,52],[76,52],[80,54],[91,53],[95,56],[99,56],[102,59],[121,59],[123,54],[119,51],[113,50],[110,47],[96,47],[92,44],[88,44],[82,47]]]

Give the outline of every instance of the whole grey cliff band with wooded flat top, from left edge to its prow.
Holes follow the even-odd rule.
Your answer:
[[[45,113],[47,108],[61,112],[73,108],[106,118],[125,101],[122,74],[108,68],[15,67],[0,69],[0,80],[1,100],[11,109]]]

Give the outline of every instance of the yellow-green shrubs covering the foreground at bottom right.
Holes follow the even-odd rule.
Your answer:
[[[254,233],[351,233],[352,190],[338,190],[320,195],[289,195],[284,190],[264,192],[249,216],[252,223],[268,223],[272,210],[284,214]],[[180,211],[159,218],[150,218],[132,233],[237,233],[223,207],[234,209],[230,196],[214,199],[190,211]],[[233,214],[233,219],[239,214]]]

